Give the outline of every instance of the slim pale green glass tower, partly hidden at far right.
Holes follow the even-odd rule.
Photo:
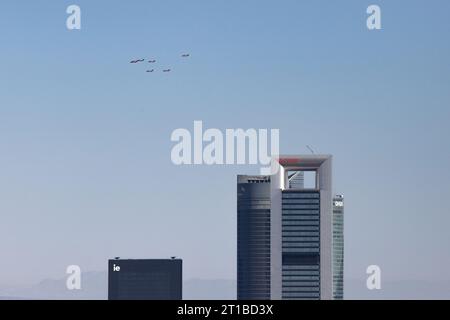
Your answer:
[[[333,299],[344,299],[344,197],[333,198]]]

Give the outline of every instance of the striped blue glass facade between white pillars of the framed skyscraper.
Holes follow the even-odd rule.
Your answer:
[[[320,299],[320,193],[282,193],[282,298]]]

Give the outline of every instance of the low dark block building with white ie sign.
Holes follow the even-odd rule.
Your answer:
[[[181,300],[182,260],[108,261],[109,300]]]

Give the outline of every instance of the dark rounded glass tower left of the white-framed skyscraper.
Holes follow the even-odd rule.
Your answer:
[[[270,177],[238,176],[237,298],[270,299]]]

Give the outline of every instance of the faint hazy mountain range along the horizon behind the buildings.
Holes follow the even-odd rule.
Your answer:
[[[84,272],[81,290],[67,290],[66,279],[47,279],[29,287],[0,285],[0,300],[55,299],[105,300],[108,297],[106,272]],[[235,300],[236,281],[189,279],[183,283],[186,300]],[[450,281],[383,281],[381,290],[367,290],[365,280],[346,280],[346,299],[450,299]]]

